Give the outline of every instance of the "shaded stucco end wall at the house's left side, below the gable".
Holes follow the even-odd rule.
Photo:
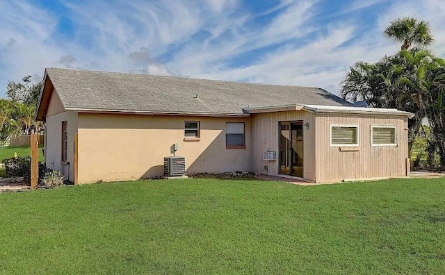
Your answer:
[[[67,161],[70,165],[60,163],[62,157],[62,122],[67,122]],[[74,134],[77,133],[77,113],[62,112],[50,115],[46,120],[44,159],[47,167],[62,172],[74,181]]]

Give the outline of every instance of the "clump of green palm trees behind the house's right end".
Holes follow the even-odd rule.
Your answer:
[[[429,24],[413,18],[396,19],[384,35],[402,42],[402,50],[377,63],[355,63],[342,83],[341,96],[364,100],[372,107],[414,113],[408,122],[410,154],[414,137],[424,135],[430,167],[439,152],[445,169],[445,61],[428,49],[411,49],[412,44],[424,47],[433,42]],[[424,117],[432,127],[428,135],[421,124]]]

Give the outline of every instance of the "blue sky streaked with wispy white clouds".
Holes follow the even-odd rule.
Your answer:
[[[9,80],[45,67],[321,87],[348,66],[400,45],[391,19],[432,26],[445,56],[442,0],[0,0],[0,97]]]

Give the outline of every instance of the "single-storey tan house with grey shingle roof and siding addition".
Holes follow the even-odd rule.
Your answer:
[[[43,81],[45,162],[76,183],[161,176],[173,144],[188,173],[314,183],[409,173],[410,113],[319,88],[57,68]]]

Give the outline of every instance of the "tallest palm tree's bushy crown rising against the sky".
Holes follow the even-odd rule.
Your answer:
[[[383,35],[394,42],[403,43],[402,50],[410,49],[412,44],[426,47],[434,42],[430,33],[430,24],[412,17],[398,18],[390,22]]]

